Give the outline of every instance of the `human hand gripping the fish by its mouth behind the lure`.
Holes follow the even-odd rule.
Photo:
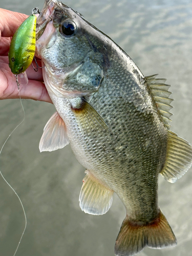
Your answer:
[[[0,8],[0,99],[19,98],[16,79],[9,68],[8,52],[11,38],[17,28],[28,16]],[[41,66],[41,61],[37,60]],[[35,63],[33,63],[36,67]],[[45,84],[42,82],[42,71],[34,71],[33,67],[26,70],[29,82],[26,86],[20,85],[20,97],[52,103]]]

